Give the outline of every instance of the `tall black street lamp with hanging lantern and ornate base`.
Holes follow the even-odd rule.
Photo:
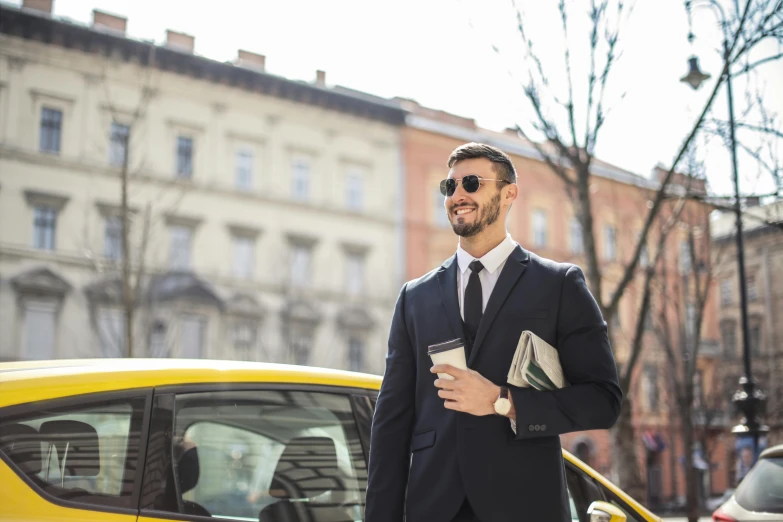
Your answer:
[[[751,437],[753,439],[753,461],[758,458],[759,454],[759,437],[766,434],[769,431],[769,427],[762,424],[759,419],[759,415],[766,409],[767,398],[761,389],[756,385],[756,381],[753,379],[750,367],[750,330],[748,328],[748,294],[745,280],[745,249],[742,237],[742,209],[740,206],[740,191],[739,191],[739,173],[737,168],[737,138],[735,134],[734,126],[734,99],[731,90],[731,67],[730,67],[730,51],[729,51],[729,38],[727,33],[728,24],[726,21],[726,15],[721,5],[717,0],[707,0],[707,4],[711,7],[717,8],[721,17],[721,28],[723,29],[723,63],[725,65],[725,81],[727,98],[729,101],[729,138],[731,143],[731,168],[734,181],[734,215],[736,218],[736,241],[737,241],[737,268],[739,277],[739,291],[740,291],[740,314],[742,318],[742,358],[744,363],[744,375],[740,377],[739,385],[740,389],[737,390],[733,397],[737,411],[743,415],[742,421],[734,426],[731,431],[737,438]],[[688,10],[690,19],[690,0],[686,0],[685,7]],[[693,40],[693,33],[688,35],[688,40]],[[709,74],[703,73],[699,69],[699,60],[695,56],[692,56],[688,60],[688,74],[683,76],[680,81],[687,83],[694,90],[698,89],[701,84],[710,78]]]

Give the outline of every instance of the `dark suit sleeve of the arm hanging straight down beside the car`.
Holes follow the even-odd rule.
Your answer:
[[[366,522],[401,522],[415,419],[416,358],[405,321],[403,286],[394,310],[386,371],[373,415]]]

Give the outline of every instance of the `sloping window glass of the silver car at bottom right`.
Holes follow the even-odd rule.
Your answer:
[[[735,498],[749,511],[783,513],[783,458],[760,460],[740,483]]]

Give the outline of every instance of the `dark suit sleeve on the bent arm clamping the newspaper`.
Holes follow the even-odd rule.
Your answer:
[[[569,386],[554,391],[510,388],[517,439],[609,429],[620,415],[622,391],[606,322],[577,266],[563,280],[555,346]]]

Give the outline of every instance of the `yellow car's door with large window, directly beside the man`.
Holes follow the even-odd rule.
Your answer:
[[[309,385],[156,389],[139,521],[363,520],[369,430],[358,421],[369,416],[359,395]]]

